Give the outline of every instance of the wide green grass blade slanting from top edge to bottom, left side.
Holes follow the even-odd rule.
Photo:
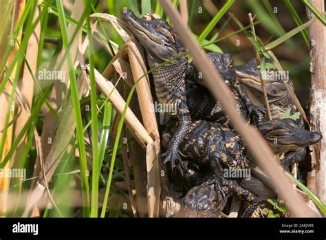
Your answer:
[[[56,0],[56,6],[58,8],[58,17],[61,26],[61,34],[63,37],[63,46],[67,51],[67,66],[70,80],[70,90],[72,93],[72,103],[74,107],[74,116],[76,119],[76,130],[77,130],[77,138],[78,138],[78,146],[80,152],[80,166],[81,166],[81,177],[82,177],[82,195],[83,195],[83,214],[84,217],[89,216],[89,183],[87,176],[87,158],[85,151],[85,143],[84,143],[84,134],[83,134],[83,120],[80,112],[80,104],[78,98],[78,88],[77,81],[74,72],[74,64],[72,63],[72,57],[69,52],[69,39],[67,33],[67,21],[65,19],[65,11],[63,10],[63,3],[60,0]]]

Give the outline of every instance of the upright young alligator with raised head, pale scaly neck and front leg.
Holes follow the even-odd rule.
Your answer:
[[[180,39],[163,19],[146,21],[135,17],[135,14],[129,10],[122,12],[122,19],[144,46],[150,68],[155,68],[186,52]],[[175,168],[177,164],[180,172],[184,172],[186,168],[180,159],[179,144],[191,125],[191,115],[186,102],[187,68],[188,56],[185,55],[152,72],[157,100],[160,103],[168,103],[176,107],[176,112],[166,113],[176,114],[180,124],[169,143],[169,148],[162,157],[164,157],[164,163],[171,162],[172,168]]]

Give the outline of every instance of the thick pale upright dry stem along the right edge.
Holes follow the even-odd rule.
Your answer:
[[[309,1],[318,12],[325,12],[324,0]],[[314,14],[307,10],[309,19]],[[316,21],[308,29],[310,42],[310,72],[312,87],[310,94],[310,123],[312,131],[326,132],[326,28]],[[310,146],[312,150],[312,172],[308,173],[307,186],[321,201],[326,201],[326,139]]]

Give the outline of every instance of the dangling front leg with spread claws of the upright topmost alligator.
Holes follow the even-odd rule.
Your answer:
[[[172,169],[177,165],[177,168],[183,175],[184,172],[187,172],[187,168],[180,158],[180,155],[183,154],[179,150],[179,145],[191,126],[191,116],[186,101],[181,101],[178,104],[177,118],[179,119],[179,125],[169,143],[169,148],[164,152],[164,154],[162,154],[162,157],[164,158],[164,164],[170,162]]]

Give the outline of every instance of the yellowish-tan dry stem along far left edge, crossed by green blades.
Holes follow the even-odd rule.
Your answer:
[[[16,27],[21,14],[23,14],[23,8],[25,7],[25,0],[16,0],[14,1],[14,8],[13,8],[13,14],[12,14],[12,24],[11,24],[11,30],[10,30],[10,35],[12,35],[14,33],[14,28]],[[19,34],[17,35],[17,41],[21,42],[21,30],[19,32]],[[9,66],[11,66],[12,64],[12,60],[15,57],[15,54],[19,48],[17,41],[14,41],[14,46],[12,48],[12,51],[10,52],[10,56],[8,59],[8,62],[6,63],[7,68]],[[17,72],[17,65],[15,66],[13,72]],[[14,74],[13,73],[13,74]],[[9,93],[12,92],[12,86],[11,84],[8,82],[6,84],[5,90]],[[0,129],[3,129],[5,124],[6,124],[6,115],[7,112],[9,110],[9,108],[12,108],[12,106],[9,106],[9,100],[10,98],[6,98],[5,94],[1,94],[0,95],[0,106],[1,106],[1,113],[0,113]],[[14,111],[10,110],[9,113],[9,122],[12,121],[12,119],[14,118]],[[0,139],[2,141],[3,138],[5,138],[5,144],[4,144],[4,148],[3,148],[3,155],[0,156],[1,161],[3,161],[4,157],[6,157],[6,155],[8,154],[10,148],[11,148],[11,144],[12,144],[12,135],[13,135],[13,126],[8,126],[7,132],[6,132],[6,136],[3,136],[2,133],[0,133]],[[8,163],[6,164],[6,166],[4,166],[3,170],[6,171],[8,168],[10,168],[10,166],[12,165],[12,161],[8,161]],[[10,179],[8,177],[2,177],[0,179],[0,193],[1,192],[5,192],[6,190],[8,190],[10,186]],[[7,206],[7,201],[8,201],[8,194],[2,194],[2,196],[0,197],[0,217],[4,217],[6,216],[6,206]]]

